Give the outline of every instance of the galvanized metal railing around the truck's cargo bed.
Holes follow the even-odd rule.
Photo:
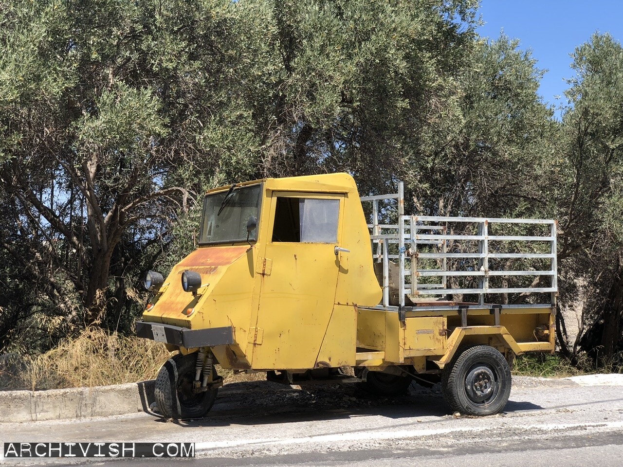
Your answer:
[[[391,285],[396,289],[397,303],[394,305],[398,308],[404,308],[407,296],[409,301],[417,302],[444,297],[454,300],[451,297],[472,295],[477,296],[477,301],[470,300],[470,303],[499,304],[502,300],[492,302],[491,299],[495,298],[493,294],[502,294],[508,298],[510,294],[530,296],[545,293],[549,295],[549,303],[531,306],[554,306],[556,303],[556,221],[404,215],[401,182],[396,194],[362,197],[361,200],[372,202],[372,222],[368,227],[371,229],[374,261],[383,264],[382,308],[393,308],[390,303]],[[397,202],[397,212],[394,211],[397,224],[379,224],[381,205],[384,207],[384,214],[391,209],[387,206],[388,202]],[[449,226],[452,226],[450,231]],[[492,227],[493,230],[513,230],[511,226],[515,230],[533,229],[539,232],[538,235],[489,233]],[[472,233],[469,233],[470,229]],[[461,233],[454,234],[454,231]],[[510,242],[513,244],[512,252],[509,251]],[[457,245],[464,246],[465,243],[473,250],[466,248],[468,251],[463,251],[462,248],[457,248]],[[495,245],[493,250],[490,248],[492,243]],[[398,277],[391,277],[392,260],[397,260]],[[500,260],[506,262],[494,268],[490,267],[490,263],[500,263]],[[539,268],[521,269],[522,265],[530,262],[539,263]],[[435,263],[435,267],[431,267],[431,263]],[[519,268],[511,267],[513,264],[518,264]],[[500,276],[506,281],[504,286],[491,286],[490,280]],[[532,276],[535,280],[528,286],[508,285],[509,280],[522,276]],[[542,280],[543,277],[549,280]],[[430,281],[434,278],[438,278],[437,281]],[[472,281],[477,279],[477,285],[474,283],[468,287],[455,286],[457,278],[472,278]],[[539,286],[542,281],[546,282],[545,286]],[[506,300],[501,306],[514,305],[508,304]]]

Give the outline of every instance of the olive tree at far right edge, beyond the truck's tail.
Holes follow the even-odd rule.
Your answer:
[[[623,48],[595,34],[572,58],[576,75],[561,130],[559,257],[576,270],[566,300],[585,295],[584,329],[571,351],[581,344],[598,359],[623,352]]]

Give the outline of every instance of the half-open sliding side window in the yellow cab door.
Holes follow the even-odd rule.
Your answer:
[[[273,242],[336,243],[339,199],[277,197]]]

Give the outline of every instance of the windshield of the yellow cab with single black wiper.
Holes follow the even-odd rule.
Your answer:
[[[199,243],[246,242],[249,217],[255,216],[259,224],[261,194],[262,185],[235,188],[225,204],[227,190],[207,195]],[[257,241],[257,229],[249,234],[251,240]]]

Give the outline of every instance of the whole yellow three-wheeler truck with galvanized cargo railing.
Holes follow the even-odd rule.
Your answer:
[[[341,173],[207,192],[199,248],[145,278],[136,333],[179,350],[156,379],[160,412],[206,415],[217,363],[386,395],[437,378],[452,410],[502,411],[513,357],[554,349],[556,223],[403,210],[401,183],[359,197]]]

